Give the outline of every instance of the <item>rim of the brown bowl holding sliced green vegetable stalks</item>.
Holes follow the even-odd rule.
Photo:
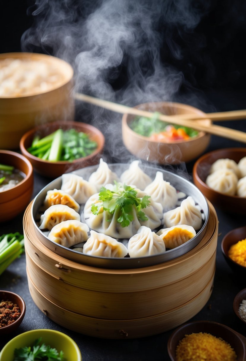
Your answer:
[[[29,153],[24,145],[26,139],[30,136],[30,135],[33,135],[35,134],[36,131],[39,131],[39,130],[43,130],[43,129],[47,129],[47,127],[54,127],[57,129],[59,129],[59,127],[61,126],[61,129],[62,129],[62,126],[63,125],[71,125],[71,127],[67,127],[67,129],[71,129],[73,127],[81,127],[81,128],[86,128],[88,130],[90,130],[94,135],[97,135],[98,138],[101,139],[101,142],[100,144],[98,144],[98,147],[95,149],[95,151],[93,153],[91,153],[90,155],[86,156],[86,157],[80,157],[78,159],[75,159],[73,160],[72,162],[69,162],[69,161],[56,161],[56,162],[51,162],[51,161],[48,161],[48,160],[43,160],[43,159],[40,159],[38,157],[35,157],[34,155],[32,155],[31,153]],[[19,147],[21,149],[21,152],[23,153],[23,155],[27,156],[28,158],[32,159],[33,161],[35,161],[36,163],[43,163],[43,164],[49,164],[49,165],[72,165],[72,164],[76,164],[76,163],[80,163],[82,160],[83,161],[88,161],[90,160],[91,158],[94,158],[97,154],[101,153],[102,152],[102,149],[104,148],[104,144],[105,144],[105,137],[104,135],[102,134],[102,132],[94,127],[93,125],[91,124],[87,124],[87,123],[83,123],[83,122],[72,122],[72,121],[56,121],[56,122],[51,122],[51,123],[46,123],[46,124],[42,124],[42,125],[38,125],[34,128],[32,128],[31,130],[29,130],[28,132],[26,132],[25,134],[23,134],[23,136],[21,137],[21,140],[20,140],[20,143],[19,143]]]

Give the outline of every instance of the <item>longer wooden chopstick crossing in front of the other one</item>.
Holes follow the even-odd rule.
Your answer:
[[[82,93],[75,93],[74,96],[75,96],[75,99],[77,99],[77,100],[84,101],[85,103],[94,104],[96,106],[101,106],[102,108],[109,109],[116,113],[122,113],[122,114],[128,113],[128,114],[133,114],[133,115],[143,116],[143,117],[148,117],[148,118],[151,118],[153,116],[153,112],[148,112],[146,110],[137,109],[137,108],[131,108],[130,106],[113,103],[108,100],[98,99],[98,98],[95,98],[95,97],[92,97],[89,95],[85,95]],[[216,114],[216,113],[210,113],[210,114]],[[208,116],[208,114],[206,114],[206,117],[207,116]],[[241,132],[241,131],[235,130],[235,129],[226,128],[226,127],[221,127],[219,125],[213,125],[213,124],[207,126],[207,125],[201,124],[199,121],[196,122],[195,120],[191,120],[190,118],[184,119],[183,114],[180,116],[168,116],[168,115],[160,114],[159,119],[166,121],[166,122],[170,122],[172,124],[183,125],[186,127],[196,129],[198,131],[204,131],[209,134],[214,134],[217,136],[221,136],[223,138],[228,138],[228,139],[232,139],[232,140],[237,140],[238,142],[246,143],[246,134],[244,132]],[[198,118],[196,117],[195,119],[198,119]],[[205,119],[204,116],[201,117],[201,119]]]

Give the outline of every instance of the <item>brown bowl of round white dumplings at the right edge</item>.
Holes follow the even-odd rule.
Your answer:
[[[224,148],[200,157],[194,184],[214,206],[228,213],[246,213],[246,148]]]

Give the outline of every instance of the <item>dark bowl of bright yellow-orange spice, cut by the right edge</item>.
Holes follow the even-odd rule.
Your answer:
[[[221,242],[221,250],[230,268],[241,276],[246,275],[246,227],[228,232]]]

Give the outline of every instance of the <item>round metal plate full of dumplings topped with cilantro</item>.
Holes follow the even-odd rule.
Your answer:
[[[63,174],[35,197],[40,241],[75,262],[130,269],[184,255],[203,238],[209,209],[185,178],[131,164],[98,165]]]

